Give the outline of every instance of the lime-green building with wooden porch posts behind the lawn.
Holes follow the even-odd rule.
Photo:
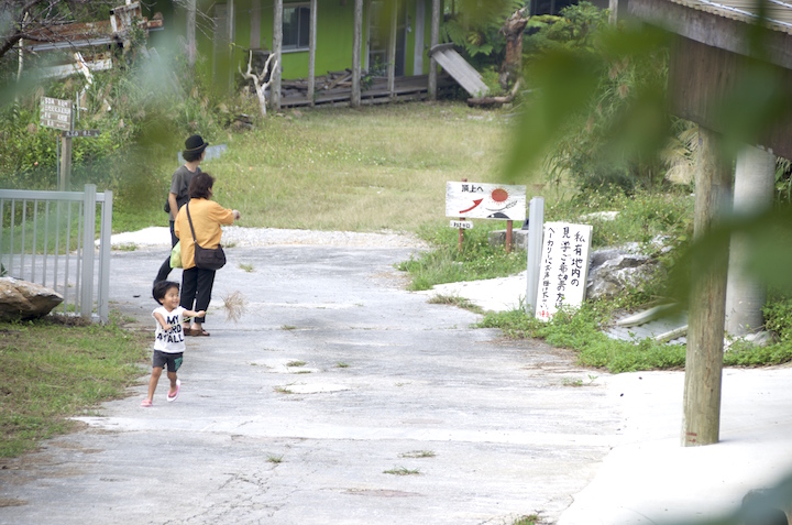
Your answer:
[[[250,53],[258,65],[276,53],[276,109],[436,97],[450,84],[428,54],[441,0],[160,0],[150,9],[168,21],[152,45],[178,35],[189,56],[194,42],[208,58],[196,67],[219,85],[233,85]]]

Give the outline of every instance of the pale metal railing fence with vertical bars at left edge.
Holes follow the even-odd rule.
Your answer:
[[[112,192],[94,184],[84,192],[0,189],[0,273],[63,295],[56,311],[107,322],[111,227]]]

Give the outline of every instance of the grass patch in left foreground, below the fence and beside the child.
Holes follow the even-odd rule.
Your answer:
[[[67,417],[123,397],[141,376],[147,339],[114,320],[0,322],[0,457],[31,450],[69,431]]]

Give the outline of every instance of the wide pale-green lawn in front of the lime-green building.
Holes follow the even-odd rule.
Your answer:
[[[228,133],[218,141],[227,153],[201,168],[217,177],[215,200],[242,212],[239,226],[417,231],[446,223],[447,181],[497,181],[507,123],[505,112],[460,102],[286,111]],[[167,225],[162,205],[178,166],[156,162],[147,193],[118,190],[114,231]]]

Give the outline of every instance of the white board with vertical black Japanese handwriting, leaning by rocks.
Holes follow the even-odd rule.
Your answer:
[[[576,307],[585,298],[592,227],[546,222],[539,266],[536,317],[550,320],[562,306]]]

